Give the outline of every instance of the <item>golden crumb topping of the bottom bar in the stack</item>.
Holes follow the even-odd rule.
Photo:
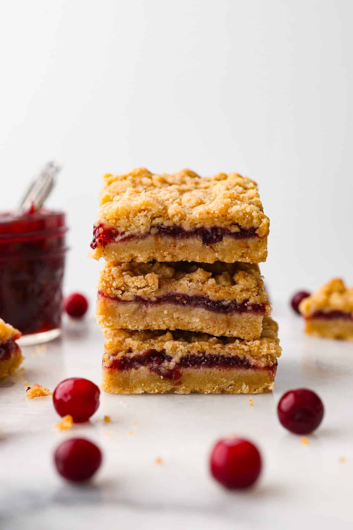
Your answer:
[[[103,364],[107,367],[115,358],[134,357],[147,350],[163,351],[177,363],[186,355],[212,354],[247,356],[255,364],[271,365],[279,357],[278,325],[265,316],[261,338],[252,341],[232,337],[213,337],[191,331],[131,331],[104,329]]]

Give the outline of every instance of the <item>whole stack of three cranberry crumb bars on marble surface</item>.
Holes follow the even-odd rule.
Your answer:
[[[278,326],[258,263],[269,219],[257,184],[190,170],[105,175],[91,255],[103,389],[253,393],[274,388]]]

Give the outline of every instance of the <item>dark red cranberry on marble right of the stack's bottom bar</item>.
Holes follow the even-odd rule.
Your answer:
[[[319,427],[324,407],[318,394],[307,388],[289,390],[280,398],[278,419],[294,434],[310,434]]]

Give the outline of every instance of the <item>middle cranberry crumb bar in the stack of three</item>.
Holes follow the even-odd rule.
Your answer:
[[[101,328],[202,331],[258,339],[269,315],[257,264],[105,263],[98,283]]]

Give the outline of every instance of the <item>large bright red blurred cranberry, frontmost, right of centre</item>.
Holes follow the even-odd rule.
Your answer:
[[[224,438],[212,449],[210,470],[213,478],[230,490],[248,488],[261,472],[261,455],[248,440]]]

